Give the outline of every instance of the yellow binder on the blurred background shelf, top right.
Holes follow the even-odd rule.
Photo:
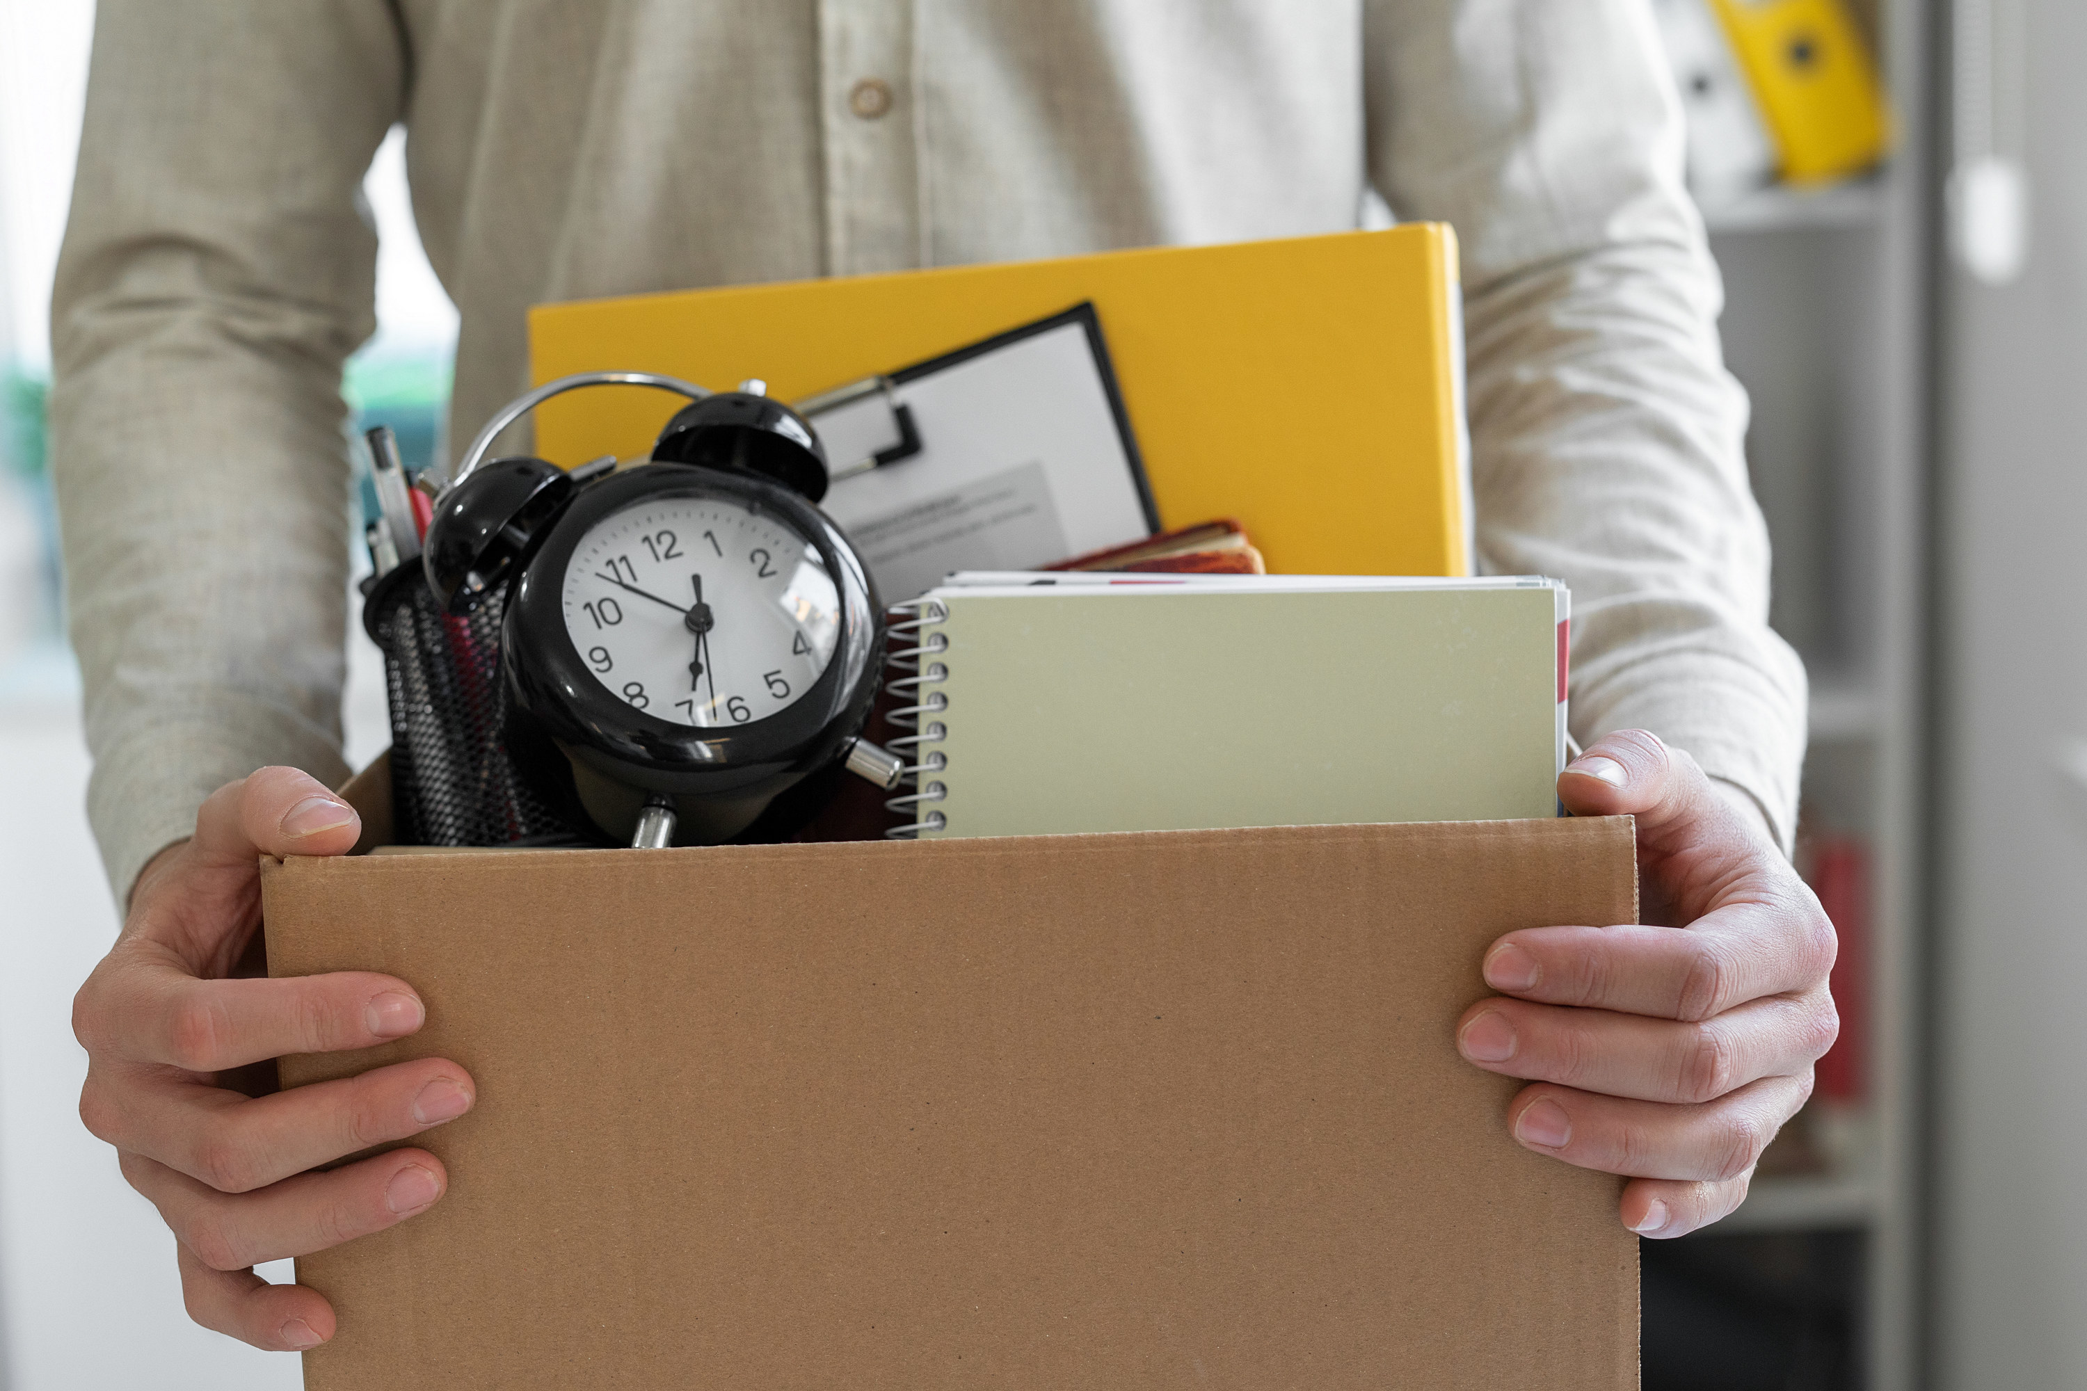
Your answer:
[[[1868,169],[1891,146],[1891,111],[1843,0],[1711,0],[1782,154],[1816,184]]]

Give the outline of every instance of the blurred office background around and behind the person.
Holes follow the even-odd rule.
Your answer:
[[[2062,1093],[2087,1053],[2087,6],[1645,2],[1753,392],[1774,621],[1812,667],[1799,859],[1845,1020],[1745,1207],[1645,1243],[1645,1385],[2087,1385],[2087,1120]],[[90,29],[90,0],[0,0],[0,1391],[288,1389],[294,1360],[188,1326],[171,1239],[73,1114],[69,1001],[117,913],[42,396]],[[1793,117],[1807,81],[1841,86]],[[455,313],[399,154],[369,173],[382,330],[346,390],[417,465]],[[361,761],[384,728],[355,640]]]

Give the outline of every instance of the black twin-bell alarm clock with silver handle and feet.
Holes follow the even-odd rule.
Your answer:
[[[691,398],[649,461],[484,461],[543,400],[609,384]],[[895,786],[899,761],[860,738],[883,607],[816,507],[824,490],[818,436],[760,382],[707,392],[580,373],[513,400],[472,442],[428,526],[428,584],[451,613],[505,592],[507,751],[582,834],[774,838],[843,770]]]

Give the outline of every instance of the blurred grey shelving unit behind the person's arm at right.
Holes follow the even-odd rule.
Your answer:
[[[1822,1066],[1809,1114],[1793,1122],[1747,1201],[1690,1241],[1860,1233],[1860,1385],[1874,1391],[1916,1385],[1922,1349],[1930,2],[1880,0],[1870,17],[1897,125],[1885,167],[1830,186],[1753,188],[1703,209],[1726,286],[1726,361],[1753,400],[1747,465],[1774,546],[1770,621],[1812,672],[1801,859],[1822,878],[1828,911],[1847,920],[1834,986],[1849,997],[1843,1020],[1855,1047],[1828,1059],[1841,1068],[1830,1082]]]

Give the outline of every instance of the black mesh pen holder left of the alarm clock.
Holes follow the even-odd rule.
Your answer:
[[[399,845],[582,845],[515,772],[501,736],[505,588],[470,615],[442,613],[417,561],[363,601],[384,653]]]

